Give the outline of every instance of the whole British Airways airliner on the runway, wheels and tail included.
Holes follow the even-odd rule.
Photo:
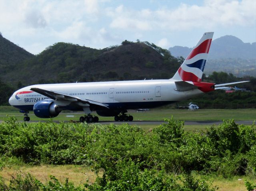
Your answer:
[[[171,79],[30,85],[15,91],[9,103],[24,113],[24,121],[30,120],[29,111],[39,118],[53,118],[62,110],[84,111],[81,122],[98,122],[93,111],[115,121],[132,121],[128,109],[155,108],[247,82],[202,82],[212,37],[213,32],[203,34]]]

